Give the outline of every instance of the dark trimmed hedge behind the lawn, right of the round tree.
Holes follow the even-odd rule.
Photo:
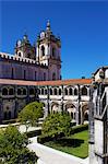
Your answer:
[[[71,129],[71,134],[77,133],[77,132],[81,132],[81,131],[84,131],[84,130],[88,130],[88,124],[73,127]]]

